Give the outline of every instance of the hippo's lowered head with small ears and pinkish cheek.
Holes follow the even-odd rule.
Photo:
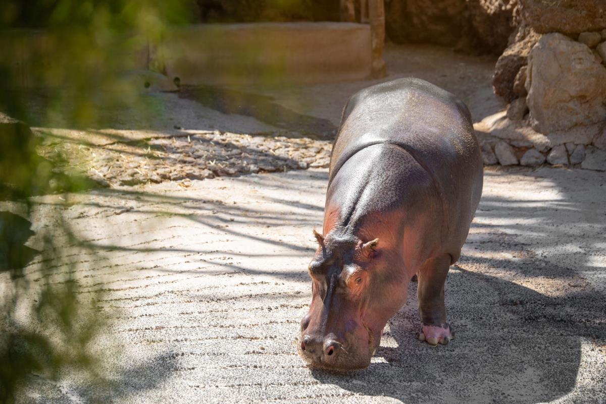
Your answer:
[[[382,268],[379,239],[314,234],[319,247],[309,266],[312,298],[301,320],[299,354],[311,367],[368,367],[387,320],[406,299],[407,282],[399,271]]]

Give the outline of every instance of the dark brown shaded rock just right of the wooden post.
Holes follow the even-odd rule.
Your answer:
[[[453,46],[463,31],[465,0],[385,2],[385,28],[394,42]]]

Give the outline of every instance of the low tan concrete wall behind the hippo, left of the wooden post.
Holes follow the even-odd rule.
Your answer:
[[[192,25],[152,48],[150,66],[192,85],[365,79],[372,73],[370,25]]]

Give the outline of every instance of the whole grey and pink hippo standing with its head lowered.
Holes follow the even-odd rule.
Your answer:
[[[333,146],[323,232],[315,232],[303,359],[367,367],[414,275],[419,339],[448,344],[444,281],[481,194],[482,158],[461,100],[410,78],[352,96]]]

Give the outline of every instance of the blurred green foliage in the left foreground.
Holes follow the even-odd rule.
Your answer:
[[[101,125],[98,111],[108,106],[134,111],[138,89],[122,74],[137,67],[133,54],[187,21],[190,7],[187,0],[7,0],[0,8],[0,403],[18,400],[32,380],[60,380],[67,371],[101,380],[90,342],[105,324],[100,292],[82,293],[82,264],[58,264],[65,246],[85,248],[61,207],[49,210],[50,225],[31,229],[33,195],[68,198],[89,184],[58,172],[36,153],[39,132],[7,116],[74,128]]]

